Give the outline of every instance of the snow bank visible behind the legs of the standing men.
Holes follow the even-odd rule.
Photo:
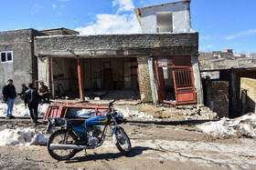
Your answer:
[[[38,105],[38,116],[43,116],[48,108],[48,104]],[[5,116],[6,104],[0,103],[0,116]],[[14,105],[14,116],[29,116],[29,110],[24,104]]]

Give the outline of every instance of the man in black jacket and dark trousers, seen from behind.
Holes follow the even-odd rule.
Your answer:
[[[28,106],[30,117],[35,125],[37,125],[37,108],[39,102],[39,94],[37,88],[32,83],[28,84],[28,90],[25,92],[25,106]]]

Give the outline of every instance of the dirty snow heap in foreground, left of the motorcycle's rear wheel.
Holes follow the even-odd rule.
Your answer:
[[[0,132],[0,145],[47,145],[48,137],[32,128],[5,129]]]

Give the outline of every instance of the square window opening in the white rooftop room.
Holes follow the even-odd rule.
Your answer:
[[[173,32],[173,14],[172,12],[156,13],[156,32]]]

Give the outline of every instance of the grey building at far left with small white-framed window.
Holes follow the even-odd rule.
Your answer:
[[[33,28],[0,32],[0,89],[13,79],[16,91],[22,84],[37,84],[37,57],[34,55],[34,38],[41,35],[70,35],[78,32],[57,28],[37,31]]]

